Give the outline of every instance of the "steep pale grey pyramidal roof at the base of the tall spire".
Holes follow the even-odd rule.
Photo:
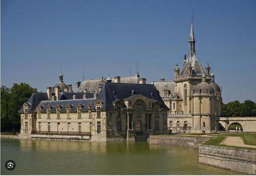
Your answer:
[[[181,69],[181,72],[180,72],[180,76],[188,74],[187,67],[188,67],[189,63],[193,67],[192,74],[205,74],[204,69],[203,69],[202,65],[200,64],[197,56],[193,55],[191,58],[188,58],[186,60],[186,62],[184,63],[184,65]]]

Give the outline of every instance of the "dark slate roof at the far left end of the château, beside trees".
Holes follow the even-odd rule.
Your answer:
[[[33,93],[26,102],[30,104],[28,108],[28,112],[35,111],[37,105],[41,102],[41,100],[47,100],[47,99],[48,99],[47,93],[42,93],[42,92]],[[23,107],[18,112],[19,113],[23,112]]]

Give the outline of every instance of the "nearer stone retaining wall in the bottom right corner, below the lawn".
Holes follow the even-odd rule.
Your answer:
[[[199,163],[256,174],[256,150],[201,144]]]

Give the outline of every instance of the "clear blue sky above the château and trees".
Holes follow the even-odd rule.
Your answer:
[[[173,80],[188,53],[193,10],[201,64],[213,62],[224,103],[256,102],[256,1],[1,1],[1,85],[39,91],[136,72]]]

